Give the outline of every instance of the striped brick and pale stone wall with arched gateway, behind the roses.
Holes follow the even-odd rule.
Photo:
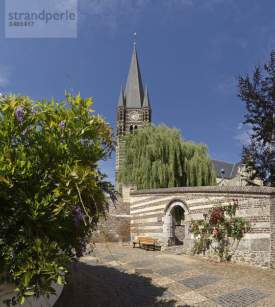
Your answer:
[[[185,210],[185,238],[183,245],[192,254],[193,235],[188,226],[198,220],[214,204],[224,204],[237,198],[236,216],[245,217],[253,225],[241,240],[233,261],[256,266],[275,267],[274,249],[274,196],[275,188],[269,187],[177,187],[169,189],[135,190],[131,192],[131,238],[138,235],[155,237],[163,248],[175,243],[173,210]],[[177,226],[176,226],[177,235]],[[214,258],[211,252],[205,255]],[[217,257],[216,257],[217,258]]]

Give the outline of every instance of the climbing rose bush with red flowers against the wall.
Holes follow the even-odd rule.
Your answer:
[[[215,205],[205,220],[192,221],[189,226],[197,241],[194,252],[205,253],[212,248],[220,261],[229,261],[236,251],[245,232],[251,229],[251,224],[243,217],[236,217],[238,200],[228,201],[228,205]]]

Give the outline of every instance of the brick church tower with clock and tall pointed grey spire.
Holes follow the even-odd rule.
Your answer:
[[[118,105],[116,108],[116,167],[115,183],[118,189],[117,179],[119,167],[122,164],[124,155],[121,152],[123,146],[122,137],[125,133],[134,133],[135,129],[143,128],[151,123],[152,109],[149,102],[147,84],[145,95],[143,91],[141,75],[139,70],[136,43],[130,64],[129,74],[126,82],[125,92],[121,83]]]

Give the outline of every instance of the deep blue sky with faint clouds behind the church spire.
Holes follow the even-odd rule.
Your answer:
[[[70,83],[62,68],[74,92],[92,96],[93,109],[115,127],[137,32],[152,122],[206,143],[213,159],[240,160],[238,140],[246,142],[249,127],[241,124],[245,105],[234,77],[269,60],[274,1],[79,0],[77,38],[5,38],[4,1],[0,12],[0,92],[63,101]],[[114,182],[115,157],[101,167]]]

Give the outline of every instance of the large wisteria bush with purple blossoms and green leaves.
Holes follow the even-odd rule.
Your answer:
[[[114,151],[112,128],[91,114],[91,98],[65,96],[0,98],[0,282],[17,287],[8,306],[55,293],[68,264],[77,269],[107,196],[115,201],[98,169]]]

